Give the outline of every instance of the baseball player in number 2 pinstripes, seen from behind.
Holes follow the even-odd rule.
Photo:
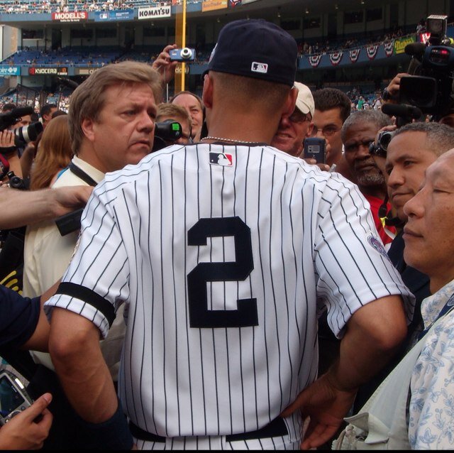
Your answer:
[[[45,306],[91,447],[296,449],[307,415],[303,447],[323,444],[404,338],[412,296],[358,187],[267,145],[294,110],[296,61],[274,24],[229,23],[204,75],[209,136],[95,188]],[[122,303],[117,400],[98,339]],[[316,380],[324,306],[343,339]]]

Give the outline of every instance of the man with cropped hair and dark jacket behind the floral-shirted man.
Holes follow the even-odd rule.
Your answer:
[[[396,215],[394,219],[386,219],[386,222],[392,222],[399,230],[389,247],[388,256],[401,274],[407,288],[414,294],[416,304],[414,317],[409,324],[406,341],[401,346],[400,354],[397,354],[393,361],[372,381],[360,387],[354,411],[362,407],[367,398],[402,359],[406,351],[413,346],[423,330],[421,302],[431,295],[430,282],[428,275],[407,265],[404,260],[405,243],[402,236],[403,227],[408,219],[404,212],[404,204],[419,192],[428,166],[451,148],[454,148],[454,129],[452,127],[435,122],[417,122],[406,124],[392,132],[386,153],[379,151],[379,155],[377,155],[376,148],[372,150],[375,162],[382,168],[384,179],[387,182],[389,202]]]

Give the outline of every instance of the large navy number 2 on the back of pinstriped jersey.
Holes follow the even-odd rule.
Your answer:
[[[258,325],[257,299],[237,300],[238,310],[209,310],[206,283],[243,281],[253,271],[250,228],[240,217],[199,219],[189,229],[189,246],[206,246],[209,237],[233,236],[236,261],[199,263],[187,275],[189,325],[194,328],[250,327]]]

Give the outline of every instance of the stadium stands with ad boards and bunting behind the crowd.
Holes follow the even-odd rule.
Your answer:
[[[4,52],[0,76],[88,75],[118,60],[152,61],[175,42],[175,17],[181,0],[4,0],[0,23],[16,26],[16,53]],[[187,0],[186,45],[196,48],[189,77],[206,69],[222,26],[237,18],[278,23],[300,46],[299,70],[309,83],[384,80],[405,70],[405,45],[416,34],[421,15],[446,13],[444,0]],[[1,13],[1,8],[12,8]],[[21,11],[21,12],[17,12]],[[43,12],[44,11],[44,12]],[[449,30],[452,36],[451,28]],[[5,42],[5,40],[4,40]],[[309,71],[307,71],[309,70]],[[314,71],[315,70],[315,71]],[[302,77],[302,72],[301,72]]]

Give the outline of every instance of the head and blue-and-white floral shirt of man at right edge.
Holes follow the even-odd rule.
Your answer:
[[[426,331],[443,317],[424,336],[412,372],[409,442],[412,449],[453,449],[454,150],[428,167],[421,190],[406,202],[404,212],[409,217],[405,261],[431,279],[433,295],[421,305]]]

